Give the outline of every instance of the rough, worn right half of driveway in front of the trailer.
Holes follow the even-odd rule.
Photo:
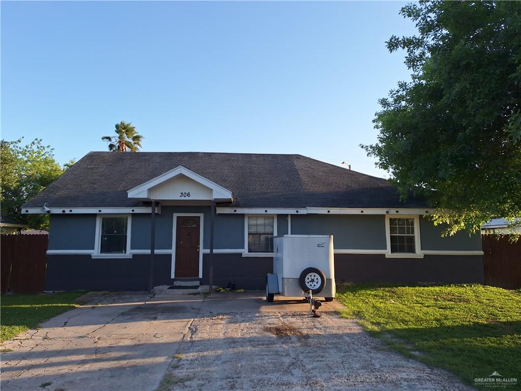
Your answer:
[[[280,300],[280,299],[279,299]],[[167,390],[469,391],[453,375],[392,352],[338,302],[205,300],[165,375]],[[239,302],[239,303],[238,303]],[[250,310],[247,310],[247,309]]]

